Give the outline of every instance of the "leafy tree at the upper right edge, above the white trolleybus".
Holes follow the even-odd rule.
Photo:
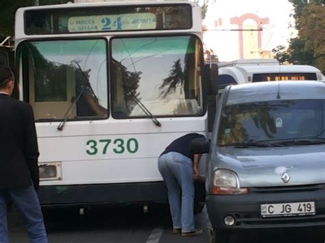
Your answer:
[[[289,0],[293,3],[298,37],[291,38],[289,49],[272,51],[280,63],[309,64],[325,72],[325,0]]]

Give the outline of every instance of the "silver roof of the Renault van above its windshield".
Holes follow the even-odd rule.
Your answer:
[[[280,97],[278,99],[278,97]],[[320,81],[274,81],[230,86],[226,105],[260,101],[324,99],[325,83]]]

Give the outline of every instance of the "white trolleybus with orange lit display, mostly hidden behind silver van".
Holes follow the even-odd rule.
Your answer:
[[[317,68],[307,65],[280,65],[276,59],[248,59],[219,62],[219,88],[229,84],[246,84],[260,81],[323,80]]]

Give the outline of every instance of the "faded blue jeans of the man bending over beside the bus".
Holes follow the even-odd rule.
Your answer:
[[[165,180],[173,229],[194,231],[193,162],[180,153],[169,152],[158,159],[158,169]]]

